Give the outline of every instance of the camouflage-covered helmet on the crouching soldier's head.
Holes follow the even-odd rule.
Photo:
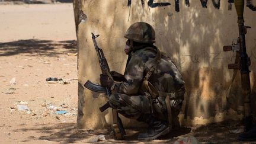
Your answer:
[[[124,37],[139,43],[155,43],[155,30],[148,23],[137,22],[130,25]]]

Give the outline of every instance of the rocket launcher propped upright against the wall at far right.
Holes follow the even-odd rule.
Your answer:
[[[235,0],[236,13],[238,15],[238,28],[239,37],[236,43],[232,46],[223,46],[223,51],[233,50],[236,52],[236,62],[229,64],[229,69],[239,69],[241,72],[241,84],[242,95],[244,96],[244,111],[245,111],[245,131],[248,131],[252,127],[252,114],[251,114],[251,85],[249,78],[249,66],[251,60],[247,55],[245,45],[245,34],[247,34],[247,28],[251,28],[244,25],[244,0]]]

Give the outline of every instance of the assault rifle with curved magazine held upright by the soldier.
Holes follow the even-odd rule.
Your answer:
[[[92,41],[94,43],[94,47],[95,47],[95,50],[97,52],[98,60],[100,62],[101,72],[104,75],[108,75],[111,79],[113,79],[111,74],[110,74],[110,69],[108,67],[107,60],[105,59],[103,50],[100,47],[98,47],[98,44],[97,44],[97,41],[96,41],[96,38],[100,35],[97,34],[95,36],[93,33],[91,33],[91,34],[92,34]],[[85,82],[84,87],[88,88],[89,90],[94,91],[94,92],[105,92],[105,95],[107,96],[107,98],[109,98],[110,95],[111,95],[110,89],[105,88],[101,85],[94,84],[89,80],[87,82]],[[107,110],[107,108],[109,108],[109,107],[111,107],[110,104],[106,103],[102,107],[100,107],[100,111],[103,112],[103,111]],[[126,132],[124,131],[123,123],[121,122],[121,119],[118,116],[117,110],[113,108],[112,112],[113,112],[114,136],[115,136],[116,139],[124,139],[124,135],[126,135]]]

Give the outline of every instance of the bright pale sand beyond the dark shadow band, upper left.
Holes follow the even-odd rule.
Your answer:
[[[0,42],[75,40],[72,4],[0,5]]]

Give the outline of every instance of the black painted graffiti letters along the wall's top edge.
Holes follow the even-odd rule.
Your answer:
[[[141,4],[144,5],[144,1],[145,0],[140,0]],[[175,11],[179,12],[180,11],[180,0],[174,0],[175,2]],[[203,8],[207,8],[207,2],[208,0],[200,0],[201,2],[201,6]],[[228,9],[231,10],[232,9],[232,3],[234,2],[234,0],[228,0]],[[215,7],[216,9],[220,9],[220,0],[212,0],[212,4],[213,7]],[[132,5],[132,0],[128,0],[128,7],[130,7]],[[166,7],[168,5],[171,5],[170,2],[154,2],[154,0],[148,0],[148,6],[151,8],[156,8],[156,7]],[[185,0],[185,5],[187,7],[190,7],[190,1],[189,0]],[[251,9],[252,11],[256,11],[256,7],[252,4],[252,0],[247,0],[247,7],[249,9]]]

